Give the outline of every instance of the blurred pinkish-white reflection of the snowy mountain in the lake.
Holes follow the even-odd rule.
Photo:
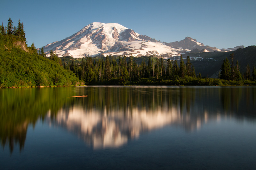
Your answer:
[[[65,127],[93,148],[106,148],[121,146],[129,138],[139,137],[141,132],[175,122],[180,122],[180,115],[174,108],[167,110],[159,107],[154,113],[133,108],[132,114],[118,110],[107,114],[106,109],[101,112],[72,107],[61,109],[52,124]]]

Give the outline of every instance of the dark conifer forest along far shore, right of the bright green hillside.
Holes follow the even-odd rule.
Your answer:
[[[256,70],[249,65],[242,74],[234,54],[220,65],[219,78],[202,77],[197,73],[190,57],[180,62],[156,56],[106,56],[73,59],[61,57],[63,67],[72,70],[85,84],[95,85],[243,85],[255,84]]]

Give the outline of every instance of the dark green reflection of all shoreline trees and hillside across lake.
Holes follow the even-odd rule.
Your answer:
[[[119,122],[114,123],[113,127],[119,129],[123,127],[123,131],[125,131],[124,124],[127,124],[123,119],[125,116],[138,116],[138,113],[171,114],[175,110],[179,119],[176,122],[172,121],[172,124],[192,130],[209,119],[217,119],[218,113],[236,115],[239,119],[243,116],[254,118],[256,106],[255,87],[100,86],[95,88],[88,86],[0,89],[0,94],[0,139],[3,147],[9,144],[11,152],[16,143],[20,144],[20,150],[24,147],[28,126],[35,126],[38,118],[44,121],[49,110],[51,119],[58,116],[56,113],[60,108],[72,107],[82,108],[86,113],[96,110],[100,116],[120,115],[122,119],[117,121],[113,118],[112,123]],[[76,95],[88,97],[67,98]],[[101,129],[107,128],[102,124],[100,126]],[[138,132],[133,129],[133,131],[128,130],[127,134],[129,133],[128,138]],[[117,134],[116,131],[116,137]]]

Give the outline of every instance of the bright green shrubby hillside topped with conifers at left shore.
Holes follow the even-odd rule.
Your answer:
[[[0,87],[76,85],[79,78],[60,63],[38,55],[34,43],[27,47],[23,24],[9,18],[0,26]],[[20,30],[20,31],[18,31]]]

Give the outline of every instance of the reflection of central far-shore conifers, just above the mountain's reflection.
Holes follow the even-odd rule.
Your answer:
[[[112,109],[120,109],[126,112],[132,111],[133,107],[140,109],[155,110],[160,107],[171,108],[173,105],[180,105],[181,110],[186,106],[187,112],[195,100],[195,90],[193,88],[143,88],[143,87],[122,87],[108,88],[93,87],[85,88],[87,98],[81,100],[86,109],[97,108],[107,113]],[[179,92],[179,93],[177,93]],[[76,99],[80,100],[80,99]]]

